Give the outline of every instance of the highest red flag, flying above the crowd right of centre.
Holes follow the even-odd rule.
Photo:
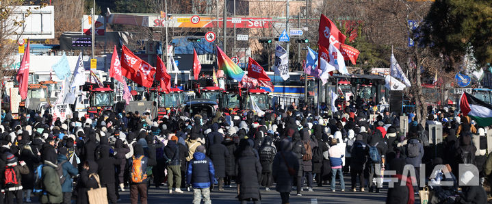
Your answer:
[[[345,44],[345,38],[347,38],[337,26],[321,14],[318,44],[323,47],[330,47],[330,44],[340,49],[340,44]]]

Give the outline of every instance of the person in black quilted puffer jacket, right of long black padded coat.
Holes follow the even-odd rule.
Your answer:
[[[270,190],[272,186],[272,164],[276,155],[276,149],[272,146],[272,138],[266,136],[259,149],[259,160],[261,163],[261,185],[265,186],[265,190]]]

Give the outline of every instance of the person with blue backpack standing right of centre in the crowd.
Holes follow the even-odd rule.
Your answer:
[[[369,192],[374,191],[374,182],[373,179],[376,180],[376,192],[379,192],[380,188],[383,188],[383,179],[380,178],[381,170],[384,168],[384,160],[385,154],[388,149],[387,144],[385,142],[383,131],[381,130],[383,127],[377,127],[376,132],[371,137],[369,142],[369,160],[367,162],[367,173],[369,175]],[[384,131],[386,132],[386,131]]]

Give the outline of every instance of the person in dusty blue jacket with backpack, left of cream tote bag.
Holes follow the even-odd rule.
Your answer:
[[[57,173],[60,175],[60,183],[62,184],[62,192],[63,192],[63,203],[70,204],[72,203],[72,184],[73,179],[77,174],[79,174],[79,170],[70,164],[66,155],[68,154],[68,149],[66,147],[60,148],[58,151],[58,164],[57,164]],[[60,171],[62,173],[60,173]]]

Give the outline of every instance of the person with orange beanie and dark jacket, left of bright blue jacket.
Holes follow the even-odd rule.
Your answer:
[[[168,145],[164,146],[164,159],[166,160],[166,170],[168,171],[168,188],[169,193],[172,194],[172,186],[174,182],[176,184],[177,193],[183,193],[181,190],[181,160],[180,160],[180,148],[178,138],[174,134],[170,134],[171,140],[168,141]]]

